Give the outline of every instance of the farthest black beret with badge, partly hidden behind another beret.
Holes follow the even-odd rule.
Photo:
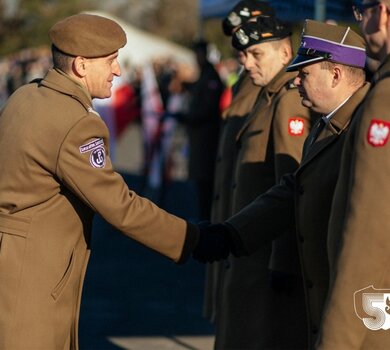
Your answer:
[[[273,16],[274,10],[266,1],[241,0],[222,21],[225,35],[231,36],[234,28],[258,16]]]

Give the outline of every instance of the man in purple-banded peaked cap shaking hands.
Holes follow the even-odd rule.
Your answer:
[[[342,147],[354,111],[369,88],[364,75],[364,47],[363,39],[349,27],[305,22],[301,45],[287,70],[298,70],[294,82],[302,104],[322,114],[322,118],[305,141],[299,168],[284,175],[278,185],[219,226],[236,237],[237,245],[241,241],[241,247],[236,248],[240,254],[264,249],[289,227],[295,227],[289,234],[298,242],[300,253],[308,311],[308,348],[314,346],[318,337],[328,292],[327,229]],[[277,294],[275,297],[278,298]],[[291,312],[290,306],[286,306],[284,313]],[[294,321],[285,322],[281,315],[280,337],[295,326],[291,322]],[[269,329],[259,329],[259,333],[262,331]],[[297,347],[291,342],[286,348]]]

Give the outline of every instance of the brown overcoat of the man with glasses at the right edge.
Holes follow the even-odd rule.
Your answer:
[[[328,231],[330,291],[320,349],[390,348],[390,57],[345,143]]]

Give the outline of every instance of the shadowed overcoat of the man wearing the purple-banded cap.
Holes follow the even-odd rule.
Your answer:
[[[228,220],[248,252],[267,245],[295,222],[305,282],[310,344],[314,344],[318,335],[328,292],[327,228],[341,151],[353,113],[368,88],[369,84],[365,84],[355,92],[335,112],[318,137],[321,120],[317,121],[305,141],[302,162],[294,174],[285,175],[278,185]]]

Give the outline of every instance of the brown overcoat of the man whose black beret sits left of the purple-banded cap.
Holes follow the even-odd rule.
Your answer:
[[[285,172],[295,170],[300,162],[310,116],[301,105],[297,89],[291,85],[294,77],[295,73],[281,71],[264,87],[237,134],[237,160],[230,194],[232,213],[273,186]],[[294,254],[297,255],[296,250]],[[217,349],[272,348],[283,341],[275,337],[275,324],[280,322],[280,315],[274,307],[284,307],[285,301],[297,305],[297,314],[304,314],[302,294],[285,294],[276,300],[275,291],[268,283],[270,258],[271,244],[250,257],[229,259],[218,295]],[[294,272],[299,273],[296,268]],[[304,333],[304,326],[300,325],[305,325],[305,321],[295,324]],[[301,341],[299,337],[289,341],[297,338]]]

